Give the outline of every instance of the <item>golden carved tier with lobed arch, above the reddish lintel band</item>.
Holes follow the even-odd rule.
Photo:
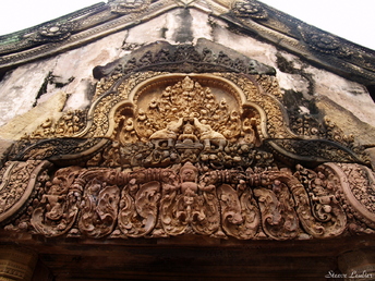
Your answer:
[[[156,82],[155,85],[149,84],[144,87],[145,89],[142,89],[141,94],[132,94],[134,87],[140,83],[164,75],[166,74],[147,72],[142,75],[132,75],[123,81],[120,77],[122,83],[117,83],[117,90],[120,93],[116,93],[113,89],[108,91],[108,95],[104,93],[96,100],[97,102],[87,118],[83,112],[66,112],[57,124],[47,120],[29,137],[44,138],[52,135],[110,137],[114,140],[113,148],[107,150],[107,155],[101,156],[108,159],[106,163],[110,162],[110,167],[122,166],[123,160],[111,159],[114,155],[126,161],[133,159],[130,161],[131,164],[146,167],[157,167],[158,164],[167,167],[171,163],[185,162],[185,160],[205,161],[206,157],[209,159],[211,156],[216,158],[216,162],[225,163],[219,167],[227,167],[226,162],[231,157],[228,151],[231,149],[232,143],[247,143],[258,147],[264,138],[276,138],[273,146],[277,147],[281,154],[287,152],[306,159],[313,157],[319,159],[320,162],[366,162],[363,148],[353,146],[353,137],[343,135],[342,131],[328,119],[324,120],[324,124],[313,122],[311,125],[310,123],[306,125],[305,120],[301,121],[300,125],[298,122],[293,122],[292,129],[304,138],[298,139],[297,135],[288,129],[287,117],[275,100],[275,98],[280,99],[281,97],[278,95],[278,87],[274,85],[274,80],[266,80],[262,75],[250,80],[251,77],[229,73],[198,80],[190,76],[183,78],[180,75],[180,80],[170,80],[171,82],[165,86],[159,86]],[[215,77],[225,77],[228,82],[239,86],[247,103],[241,107],[243,100],[240,96],[242,94],[238,94],[227,83],[215,81]],[[208,86],[203,86],[202,83]],[[270,90],[273,95],[261,95],[261,85]],[[98,86],[98,93],[101,87]],[[159,87],[158,95],[147,91],[147,88],[154,87]],[[222,95],[222,91],[230,94]],[[149,98],[145,98],[145,96],[149,96]],[[130,97],[133,100],[129,100]],[[126,102],[122,101],[123,106],[118,107],[123,99]],[[114,118],[111,119],[109,112],[113,107],[117,107],[117,110]],[[94,120],[94,122],[88,122],[84,129],[83,124],[86,119]],[[205,133],[203,133],[204,131]],[[221,156],[216,152],[199,159],[202,150],[207,150],[202,148],[208,147],[207,139],[213,137],[214,133],[216,134],[214,138],[217,140],[210,142],[209,145],[213,143],[221,148],[228,145],[228,149],[223,151],[226,155]],[[312,139],[306,139],[306,136]],[[162,139],[165,140],[161,142]],[[167,139],[169,140],[166,142]],[[133,144],[140,142],[145,144],[145,148],[141,151],[133,149],[135,147]],[[154,147],[148,152],[146,151],[150,148],[149,145],[146,145],[147,142],[150,142]],[[188,143],[189,145],[186,145]],[[47,149],[46,154],[50,150],[47,147],[45,149]],[[130,152],[130,150],[140,151],[142,163],[134,159],[134,152]],[[125,155],[128,157],[124,158]],[[252,157],[247,159],[251,161]],[[249,161],[247,159],[245,161]]]

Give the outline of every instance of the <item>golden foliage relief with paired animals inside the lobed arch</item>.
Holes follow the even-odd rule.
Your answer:
[[[204,139],[235,139],[240,130],[234,129],[241,127],[240,112],[235,109],[238,107],[230,105],[226,97],[217,100],[209,87],[202,87],[198,82],[186,76],[176,85],[168,86],[160,97],[141,107],[134,120],[125,121],[125,130],[119,132],[119,137],[125,143],[134,139],[132,134],[143,140],[173,139],[183,143],[190,139],[194,143],[197,140],[194,137],[196,132]],[[184,133],[179,135],[180,131]]]

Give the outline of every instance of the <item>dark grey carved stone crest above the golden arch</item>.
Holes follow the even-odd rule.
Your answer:
[[[275,69],[265,65],[256,60],[249,59],[241,53],[226,52],[225,48],[213,50],[205,47],[208,42],[199,39],[194,45],[170,45],[166,41],[158,41],[143,47],[141,56],[134,56],[117,65],[96,66],[94,75],[96,78],[118,80],[119,76],[132,72],[161,71],[183,73],[213,73],[213,72],[235,72],[246,74],[274,75]],[[108,76],[108,72],[111,76]]]

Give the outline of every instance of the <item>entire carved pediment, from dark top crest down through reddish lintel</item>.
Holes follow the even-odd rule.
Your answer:
[[[375,199],[363,198],[374,173],[351,136],[328,119],[290,126],[266,65],[249,72],[252,60],[220,46],[206,61],[198,47],[166,46],[97,69],[88,110],[14,145],[1,170],[5,229],[82,239],[374,232]]]

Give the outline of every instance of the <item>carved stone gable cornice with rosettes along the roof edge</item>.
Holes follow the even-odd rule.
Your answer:
[[[140,2],[140,1],[138,1]],[[142,2],[142,3],[141,3]],[[375,81],[375,52],[326,33],[262,2],[121,1],[98,3],[35,27],[0,37],[0,71],[76,48],[176,8],[190,7],[217,16],[244,34],[291,51],[317,66],[366,86]],[[119,8],[120,7],[120,8]],[[147,9],[145,9],[147,7]],[[122,9],[122,10],[121,10]]]

